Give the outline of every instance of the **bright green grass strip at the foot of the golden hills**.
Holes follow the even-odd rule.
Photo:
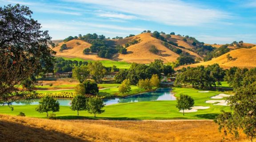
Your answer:
[[[88,62],[94,62],[93,60],[84,60],[82,58],[65,58],[65,60],[72,60],[72,61],[88,61]],[[105,67],[112,67],[113,65],[116,65],[119,69],[129,69],[131,63],[125,62],[125,61],[111,61],[111,60],[102,60],[100,61]]]

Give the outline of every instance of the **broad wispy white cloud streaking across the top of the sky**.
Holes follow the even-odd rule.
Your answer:
[[[175,26],[202,25],[230,18],[226,12],[200,7],[199,4],[188,4],[180,0],[72,0],[72,2],[94,4],[104,11],[128,13],[140,19]],[[105,16],[124,17],[124,15],[113,14],[105,14]]]

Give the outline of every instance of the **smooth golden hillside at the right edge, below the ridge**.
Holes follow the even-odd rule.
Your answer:
[[[228,61],[227,55],[233,58],[232,61]],[[196,67],[198,65],[212,65],[219,64],[221,67],[228,69],[233,66],[237,66],[240,68],[253,68],[256,67],[256,46],[251,49],[240,48],[237,50],[232,50],[226,54],[221,55],[220,57],[213,58],[211,61],[205,61],[193,65],[186,65],[191,67]]]

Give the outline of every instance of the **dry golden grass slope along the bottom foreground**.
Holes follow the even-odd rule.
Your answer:
[[[212,121],[48,120],[0,115],[0,142],[249,142]]]

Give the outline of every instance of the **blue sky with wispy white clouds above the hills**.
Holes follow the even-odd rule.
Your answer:
[[[175,32],[205,43],[256,43],[256,0],[0,0],[22,4],[52,39],[144,30]]]

